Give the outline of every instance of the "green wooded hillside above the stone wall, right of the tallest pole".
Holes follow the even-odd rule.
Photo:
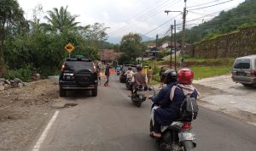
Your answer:
[[[256,24],[256,0],[246,0],[236,8],[222,11],[217,17],[186,30],[186,42],[200,42],[214,36],[230,33],[240,27]]]

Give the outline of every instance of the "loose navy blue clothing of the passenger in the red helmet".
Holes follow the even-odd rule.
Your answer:
[[[171,92],[171,90],[170,90]],[[169,95],[170,95],[169,92]],[[191,94],[191,98],[197,98],[196,90]],[[169,96],[168,96],[169,97]],[[179,109],[183,103],[185,95],[183,94],[182,89],[176,88],[174,91],[174,97],[172,101],[168,98],[169,102],[164,103],[162,106],[154,111],[154,120],[159,123],[161,126],[168,126],[172,124],[172,121],[179,119]]]

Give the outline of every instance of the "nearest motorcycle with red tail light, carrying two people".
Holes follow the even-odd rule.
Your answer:
[[[149,87],[148,90],[154,91],[152,87]],[[149,99],[153,101],[153,97]],[[154,105],[152,105],[153,107]],[[153,131],[152,120],[150,120],[149,131]],[[161,151],[188,151],[196,147],[194,140],[195,133],[192,132],[192,120],[181,119],[173,121],[170,126],[161,126],[161,137],[156,142]]]

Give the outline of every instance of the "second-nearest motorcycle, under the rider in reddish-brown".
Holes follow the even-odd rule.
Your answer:
[[[142,103],[147,99],[145,96],[145,90],[147,90],[147,87],[138,85],[135,87],[135,91],[132,92],[131,101],[135,103],[138,108],[141,107]]]

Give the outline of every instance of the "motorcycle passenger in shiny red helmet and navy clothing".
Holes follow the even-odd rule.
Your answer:
[[[198,98],[199,92],[191,85],[194,73],[188,68],[183,68],[177,72],[177,86],[173,86],[169,98],[160,103],[160,108],[154,110],[154,131],[151,137],[161,137],[160,126],[169,126],[172,121],[179,119],[179,109],[187,95],[191,98]]]

